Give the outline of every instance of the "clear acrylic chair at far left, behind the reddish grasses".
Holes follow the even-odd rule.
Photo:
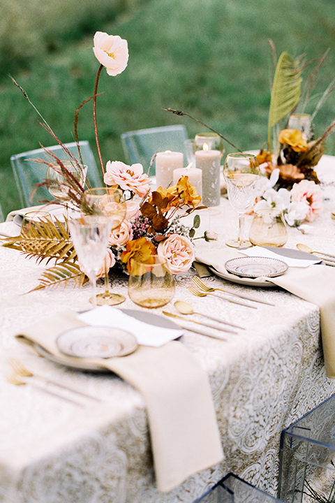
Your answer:
[[[77,143],[65,143],[68,150],[73,154],[76,159],[80,159],[77,150]],[[101,187],[102,184],[102,173],[101,169],[96,165],[93,152],[89,146],[87,140],[80,141],[80,152],[82,154],[82,161],[87,165],[87,178],[91,187]],[[61,161],[67,161],[68,157],[66,153],[61,148],[60,145],[54,145],[52,147],[46,147],[47,150],[53,152]],[[37,163],[34,160],[29,159],[50,159],[47,156],[43,148],[30,150],[29,152],[22,152],[22,154],[16,154],[10,156],[10,163],[13,168],[13,173],[15,177],[15,184],[17,186],[17,191],[20,196],[21,207],[29,207],[38,205],[40,201],[48,200],[50,201],[50,193],[45,187],[38,187],[34,196],[31,198],[31,193],[35,189],[35,184],[42,182],[45,179],[47,173],[47,165],[43,163]],[[31,199],[30,199],[31,198]]]

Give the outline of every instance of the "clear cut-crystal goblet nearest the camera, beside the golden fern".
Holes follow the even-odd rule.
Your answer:
[[[70,219],[68,228],[78,260],[91,282],[91,302],[96,307],[96,276],[105,260],[112,220],[103,215],[82,215]]]

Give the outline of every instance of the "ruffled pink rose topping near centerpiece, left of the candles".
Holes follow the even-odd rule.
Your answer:
[[[107,185],[119,185],[121,189],[134,192],[140,197],[147,194],[150,182],[148,175],[143,173],[142,164],[127,166],[121,161],[107,162],[103,181]]]

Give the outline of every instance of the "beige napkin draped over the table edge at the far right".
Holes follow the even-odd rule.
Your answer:
[[[224,247],[223,249],[208,249],[196,254],[196,259],[207,265],[212,265],[218,272],[224,272],[229,278],[230,273],[225,270],[225,262],[230,258],[245,256],[243,251]],[[278,256],[278,258],[280,258]],[[283,257],[284,259],[284,257]],[[231,275],[234,277],[234,275]],[[325,358],[327,377],[335,379],[335,268],[327,265],[309,265],[307,268],[290,267],[277,277],[248,278],[248,282],[271,282],[281,288],[294,293],[296,296],[308,300],[320,307],[320,327],[322,349]]]

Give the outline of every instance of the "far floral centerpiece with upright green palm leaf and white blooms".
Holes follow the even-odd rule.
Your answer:
[[[262,207],[278,207],[283,210],[290,226],[299,226],[301,231],[304,231],[301,223],[313,221],[323,209],[320,180],[315,172],[315,166],[325,152],[325,140],[334,132],[335,121],[319,138],[315,138],[313,119],[329,96],[334,93],[335,79],[320,96],[312,95],[315,80],[325,61],[327,51],[311,71],[301,91],[301,73],[309,63],[304,60],[304,56],[293,59],[288,52],[283,52],[277,62],[274,45],[272,43],[271,45],[276,71],[271,86],[268,138],[257,155],[263,176],[260,177],[258,185],[256,205],[250,211]],[[317,97],[318,102],[313,113],[305,114],[307,103]],[[171,108],[165,110],[191,117],[221,136],[234,149],[239,150],[228,138],[188,113]],[[308,119],[308,124],[299,126],[299,117]]]

